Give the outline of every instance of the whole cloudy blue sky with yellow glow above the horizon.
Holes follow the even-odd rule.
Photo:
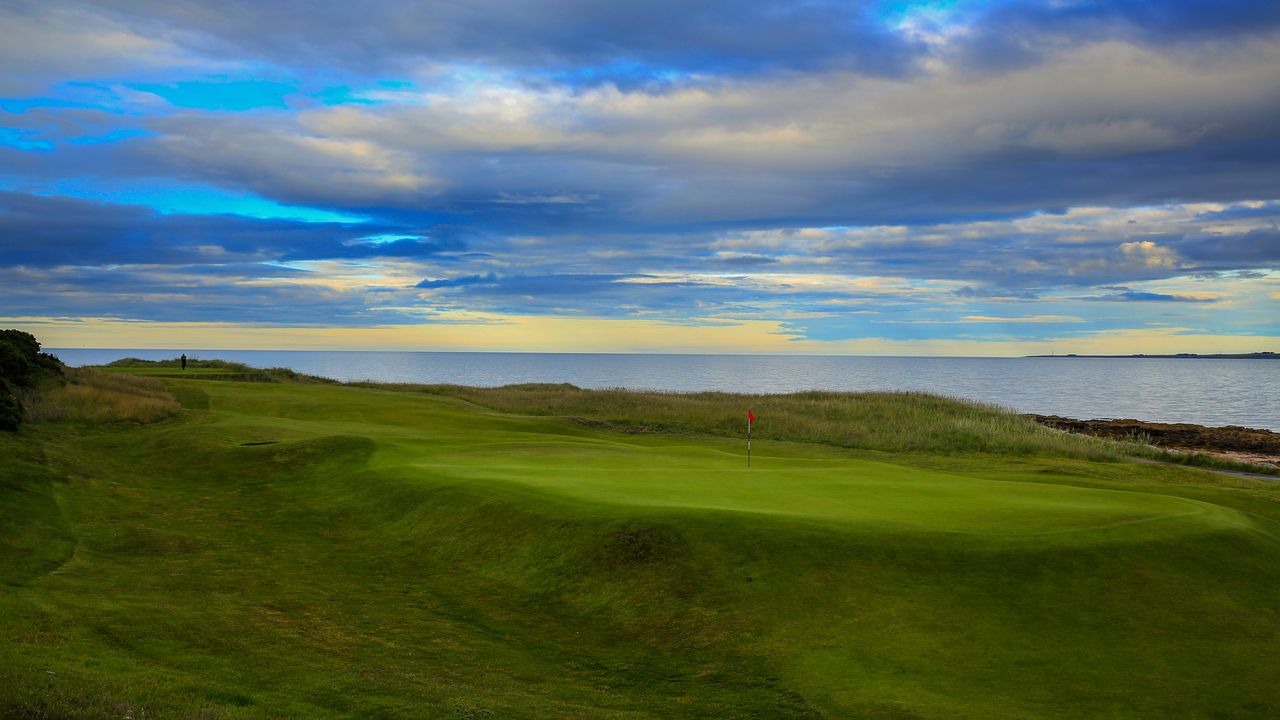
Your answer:
[[[1280,351],[1280,3],[0,0],[0,325]]]

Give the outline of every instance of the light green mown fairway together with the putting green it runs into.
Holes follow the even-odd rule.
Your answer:
[[[1044,536],[1046,542],[1249,525],[1236,511],[1164,495],[941,473],[790,443],[756,442],[748,468],[745,446],[722,438],[694,443],[591,432],[412,393],[319,387],[307,388],[302,401],[289,392],[296,388],[260,387],[250,398],[234,383],[206,388],[215,407],[236,409],[219,424],[225,436],[358,434],[378,443],[372,466],[422,469],[433,482],[516,483],[614,505],[753,512],[850,529]]]

